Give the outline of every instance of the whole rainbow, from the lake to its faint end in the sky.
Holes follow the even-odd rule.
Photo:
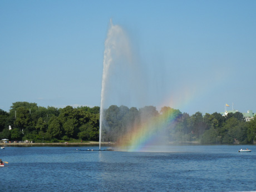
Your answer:
[[[225,77],[224,73],[221,75],[219,71],[214,71],[214,84],[212,88],[218,87],[223,82]],[[196,83],[185,84],[179,87],[172,93],[171,97],[166,97],[166,100],[159,106],[172,106],[175,109],[184,110],[189,104],[193,103],[194,99],[203,97],[206,94],[205,90],[209,90],[205,86],[208,83],[197,85]],[[127,131],[125,135],[120,137],[120,147],[127,151],[147,151],[150,145],[157,144],[159,141],[159,133],[164,132],[166,127],[175,122],[175,114],[169,112],[167,114],[161,114],[147,122],[143,122],[140,125],[135,125],[130,131]]]

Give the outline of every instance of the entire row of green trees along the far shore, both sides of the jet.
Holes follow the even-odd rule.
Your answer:
[[[166,118],[168,117],[168,118]],[[227,116],[186,112],[171,107],[112,105],[104,110],[102,138],[116,142],[130,127],[159,119],[169,142],[198,141],[204,144],[252,144],[256,137],[256,118],[247,122],[243,114]],[[12,127],[9,130],[9,126]],[[0,109],[0,139],[33,142],[99,141],[100,107],[41,107],[35,103],[14,102],[9,112]],[[157,134],[157,132],[156,132]]]

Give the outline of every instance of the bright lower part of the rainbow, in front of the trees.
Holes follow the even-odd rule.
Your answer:
[[[147,151],[150,146],[159,144],[159,140],[163,140],[161,136],[165,134],[166,128],[174,123],[176,111],[167,111],[164,114],[142,122],[140,125],[135,125],[125,135],[120,137],[117,142],[119,149],[125,151]]]

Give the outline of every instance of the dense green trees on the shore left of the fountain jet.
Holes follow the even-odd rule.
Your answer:
[[[15,102],[9,112],[0,110],[0,138],[33,142],[99,141],[99,114],[100,107],[57,109]]]

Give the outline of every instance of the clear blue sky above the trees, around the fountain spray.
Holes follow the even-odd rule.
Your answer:
[[[0,1],[0,109],[100,106],[111,19],[130,38],[146,105],[256,112],[255,9],[253,0]]]

